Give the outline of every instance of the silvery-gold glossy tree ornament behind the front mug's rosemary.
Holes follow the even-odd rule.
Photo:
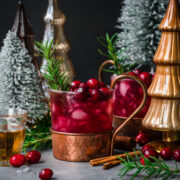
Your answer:
[[[64,23],[66,21],[66,17],[59,9],[58,0],[49,0],[44,21],[46,23],[46,26],[43,42],[50,42],[52,39],[54,39],[54,44],[57,44],[55,56],[57,59],[63,60],[61,64],[61,71],[68,72],[72,75],[73,79],[73,77],[75,76],[75,72],[68,55],[70,45],[64,33]],[[46,65],[45,60],[43,60],[42,62],[42,67],[44,65]],[[41,71],[44,72],[42,68]],[[44,86],[44,89],[47,93],[46,95],[48,95],[47,87]]]

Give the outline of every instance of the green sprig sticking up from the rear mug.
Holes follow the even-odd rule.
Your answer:
[[[124,72],[130,71],[133,67],[137,65],[137,63],[127,64],[125,61],[125,57],[122,56],[122,53],[127,49],[117,49],[116,43],[119,41],[119,37],[117,34],[114,34],[112,37],[106,33],[105,37],[97,37],[99,43],[106,48],[106,52],[103,52],[101,49],[98,49],[98,52],[105,56],[108,59],[114,61],[114,66],[111,66],[109,69],[104,69],[106,72],[114,73],[114,74],[123,74]]]

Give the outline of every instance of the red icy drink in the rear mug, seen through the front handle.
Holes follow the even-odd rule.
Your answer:
[[[148,88],[150,84],[145,85]],[[114,115],[129,117],[141,104],[142,98],[143,90],[136,81],[126,79],[117,82],[113,95]],[[146,105],[135,118],[143,118],[146,115],[150,102],[151,97],[148,96]]]

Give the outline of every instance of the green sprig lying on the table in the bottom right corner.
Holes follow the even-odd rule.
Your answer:
[[[142,153],[141,153],[141,157],[144,159],[145,165],[141,164],[140,161],[137,161],[139,160],[137,154],[135,158],[133,158],[129,154],[127,154],[127,159],[117,157],[122,161],[121,165],[124,166],[123,168],[120,169],[118,176],[122,178],[132,170],[136,170],[136,171],[130,178],[131,180],[133,180],[136,176],[138,176],[140,173],[143,172],[145,173],[145,176],[143,178],[144,180],[149,179],[151,177],[162,178],[162,180],[166,180],[168,178],[174,178],[178,174],[180,174],[180,169],[177,166],[176,161],[175,161],[175,168],[171,169],[161,159],[159,160],[155,157],[151,157],[151,159],[154,160],[154,162],[151,162],[149,159],[145,158]]]

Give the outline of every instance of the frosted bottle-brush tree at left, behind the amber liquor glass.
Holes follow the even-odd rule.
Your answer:
[[[27,110],[32,122],[48,112],[31,56],[11,31],[7,33],[0,52],[0,108]]]

